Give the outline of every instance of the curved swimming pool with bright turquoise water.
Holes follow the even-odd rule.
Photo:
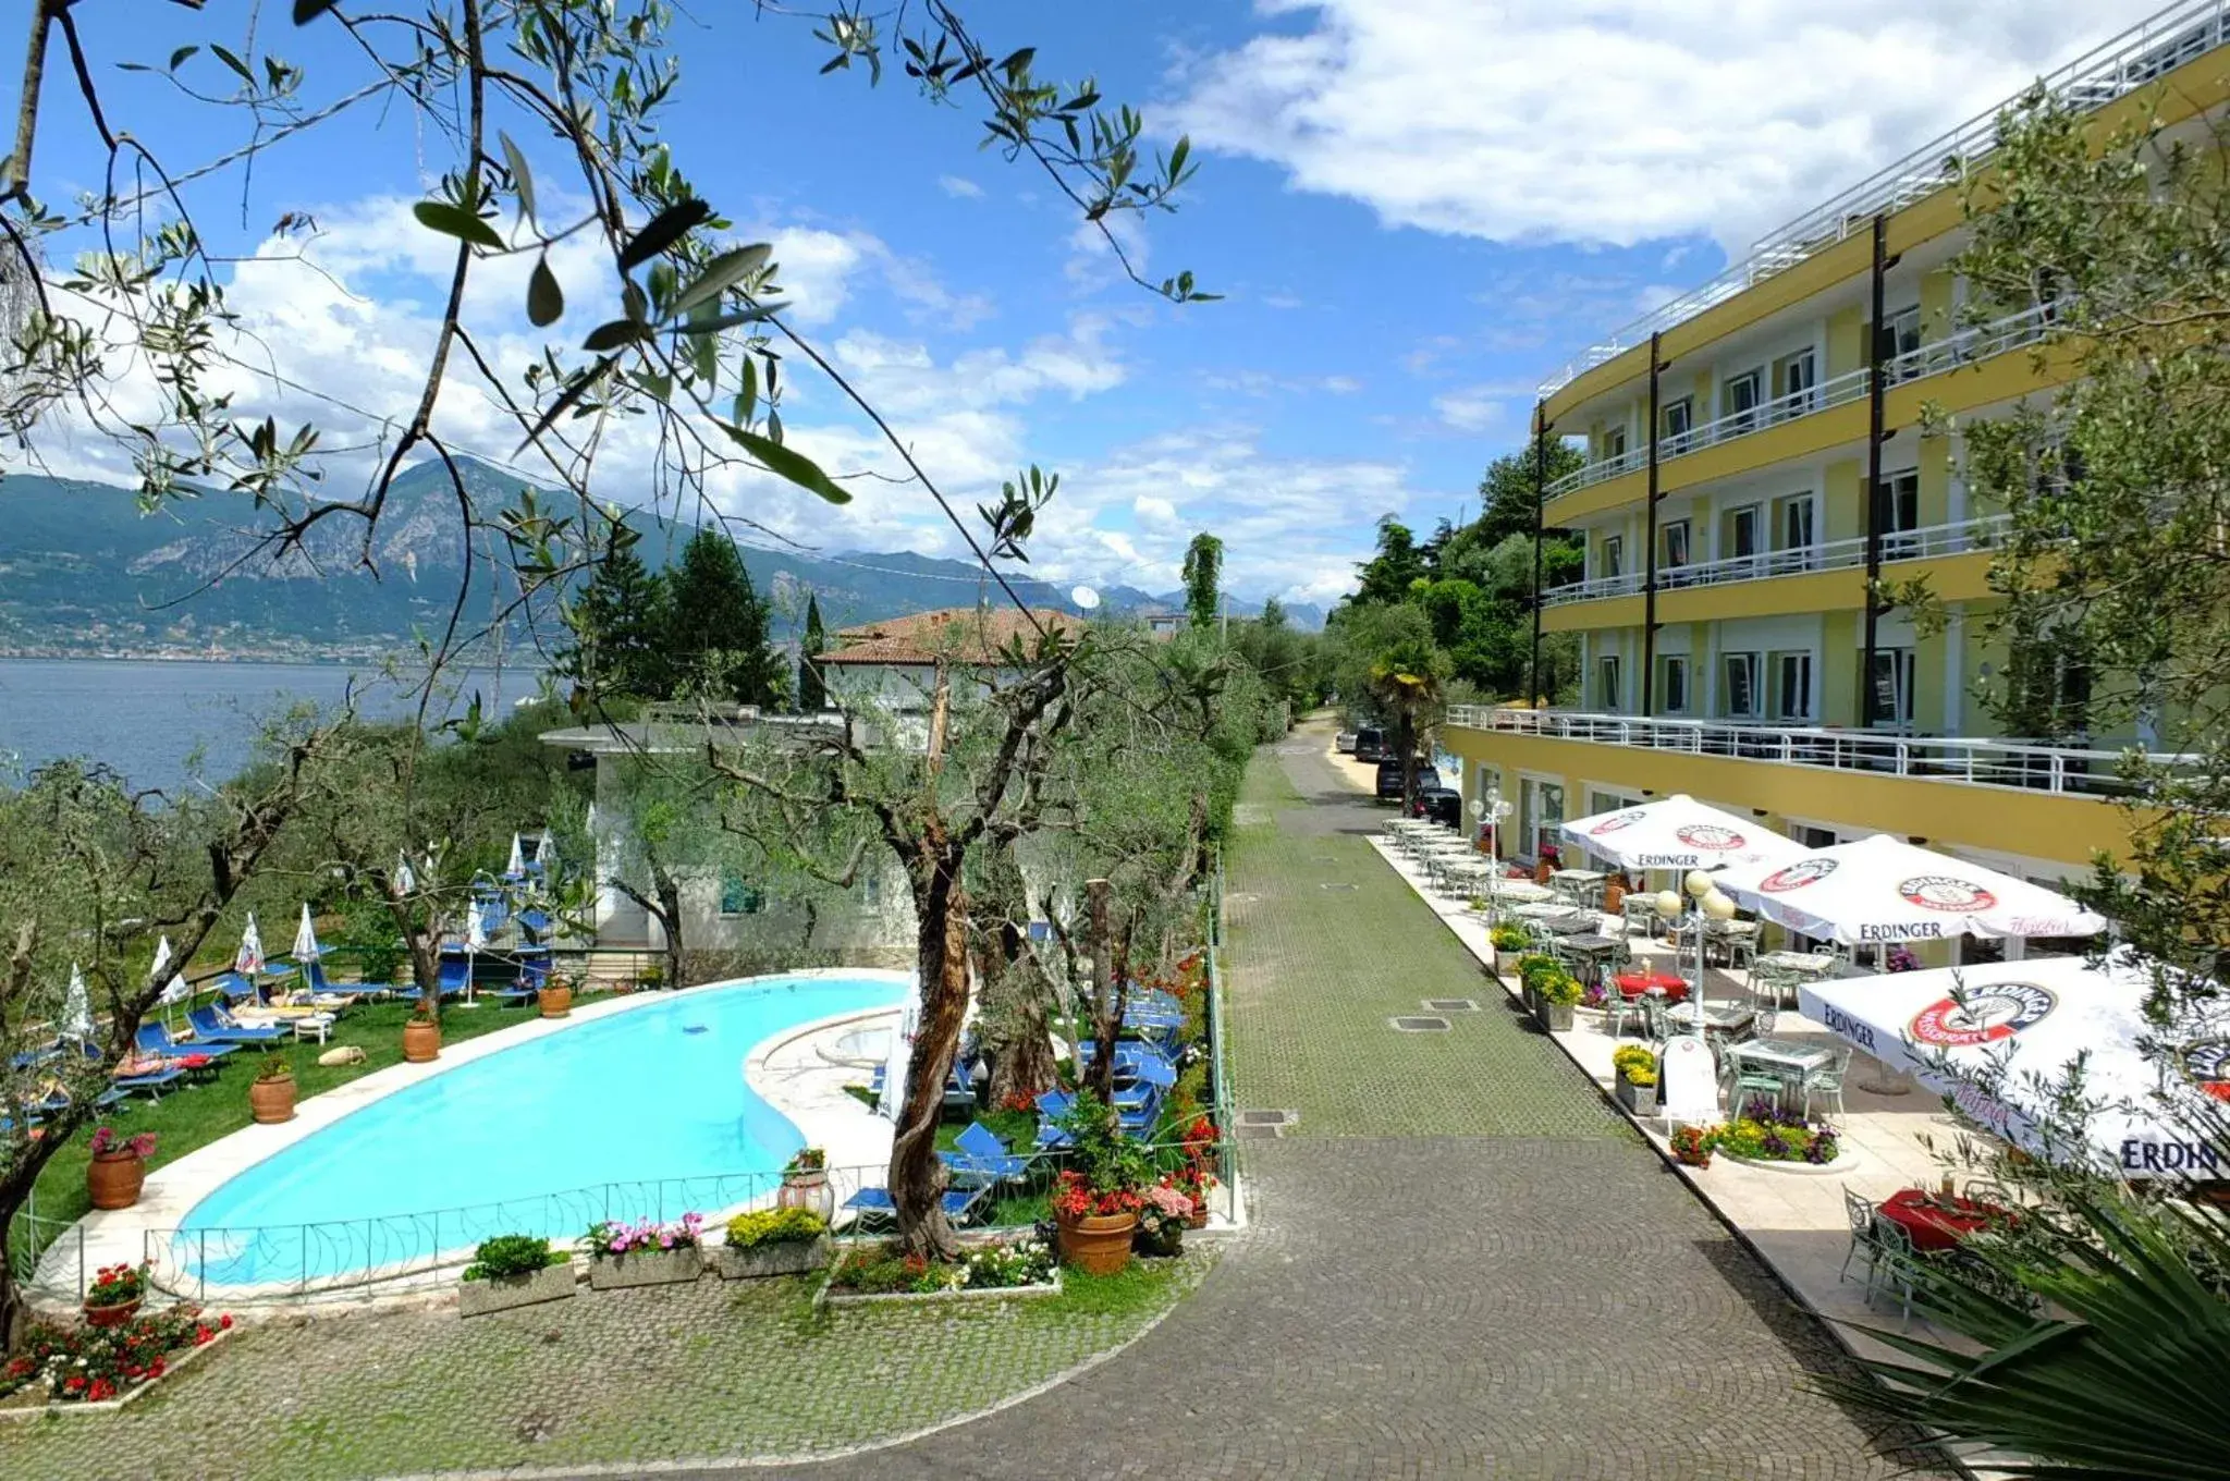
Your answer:
[[[178,1276],[317,1280],[491,1233],[743,1202],[803,1144],[743,1080],[798,1024],[896,1008],[905,979],[758,977],[571,1024],[395,1091],[241,1171],[172,1238]]]

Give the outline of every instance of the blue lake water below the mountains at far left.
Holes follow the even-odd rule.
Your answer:
[[[366,716],[406,714],[415,703],[366,669],[326,662],[187,662],[129,658],[0,658],[0,763],[36,767],[60,756],[89,756],[138,787],[176,787],[198,752],[201,776],[223,781],[241,769],[259,716],[310,700],[339,705],[348,680]],[[535,691],[535,674],[486,671],[466,683],[486,714]]]

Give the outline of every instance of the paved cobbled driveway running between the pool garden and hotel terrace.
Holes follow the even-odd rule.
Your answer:
[[[1075,1383],[807,1474],[1929,1474],[1806,1387],[1840,1349],[1369,850],[1316,729],[1231,852],[1240,1104],[1300,1111],[1255,1227]],[[1481,1010],[1387,1026],[1425,997]]]

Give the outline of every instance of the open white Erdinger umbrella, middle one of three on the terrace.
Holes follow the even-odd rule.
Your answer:
[[[1762,917],[1844,946],[1974,937],[2090,937],[2105,930],[2058,890],[1873,834],[1744,868],[1719,888]]]

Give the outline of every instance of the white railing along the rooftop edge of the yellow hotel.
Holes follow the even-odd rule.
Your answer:
[[[2105,107],[2230,40],[2226,25],[2230,25],[2230,0],[2183,0],[2181,4],[2170,4],[2150,20],[2141,20],[2114,40],[2045,76],[2043,87],[2069,107]],[[1902,210],[1965,178],[1996,147],[1998,114],[2011,107],[2011,103],[2007,98],[1998,107],[1976,114],[1833,201],[1804,212],[1788,225],[1751,243],[1751,256],[1701,288],[1684,292],[1635,319],[1610,339],[1568,361],[1557,375],[1541,381],[1541,395],[1550,397],[1563,390],[1594,366],[1617,359],[1637,343],[1646,343],[1652,332],[1686,323],[1753,283],[1762,283],[1775,272],[1802,263],[1813,252],[1869,230],[1875,212]]]

